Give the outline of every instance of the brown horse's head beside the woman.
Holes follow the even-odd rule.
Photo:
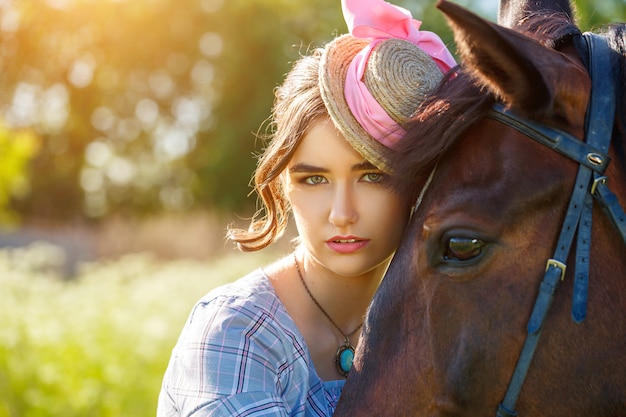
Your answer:
[[[561,231],[568,207],[579,207],[570,203],[573,190],[588,192],[577,182],[580,163],[501,117],[552,129],[556,142],[589,142],[586,38],[567,13],[527,10],[523,19],[501,20],[505,28],[445,1],[438,7],[464,67],[425,103],[399,152],[400,171],[421,191],[419,204],[368,311],[335,416],[515,415],[498,408],[536,333],[541,338],[513,394],[520,416],[626,416],[624,239],[598,203],[584,225]],[[588,123],[612,136],[601,184],[622,207],[623,31],[616,25],[606,33],[609,64],[600,65],[615,68],[616,110],[604,112],[608,122]],[[509,110],[494,112],[495,102]],[[571,251],[561,239],[568,233],[577,233]],[[545,321],[537,322],[538,310]]]

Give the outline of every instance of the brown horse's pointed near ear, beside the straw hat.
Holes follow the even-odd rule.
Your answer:
[[[587,106],[584,97],[589,85],[580,85],[584,76],[566,74],[585,72],[581,65],[461,6],[439,0],[437,7],[446,15],[466,68],[481,85],[518,112],[578,124]]]

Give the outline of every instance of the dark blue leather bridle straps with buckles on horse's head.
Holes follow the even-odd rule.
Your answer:
[[[506,110],[501,104],[495,104],[487,114],[488,117],[517,129],[579,164],[574,190],[554,256],[548,259],[546,263],[546,271],[528,321],[526,340],[507,392],[498,406],[496,417],[517,416],[515,403],[526,379],[559,282],[565,276],[566,261],[574,235],[576,235],[577,240],[572,318],[577,323],[585,319],[594,198],[626,242],[626,216],[617,197],[608,188],[607,178],[604,176],[604,171],[610,161],[608,149],[616,106],[614,92],[617,88],[617,75],[611,64],[612,50],[605,37],[585,33],[583,38],[587,43],[589,73],[592,80],[591,100],[587,109],[585,142],[561,130],[518,117]]]

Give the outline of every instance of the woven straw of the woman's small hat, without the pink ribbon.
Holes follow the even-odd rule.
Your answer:
[[[352,147],[378,168],[392,172],[389,159],[393,151],[359,124],[344,95],[348,66],[369,43],[352,35],[330,42],[322,53],[320,90],[330,117]],[[409,41],[390,38],[372,50],[363,82],[387,114],[402,126],[442,78],[428,54]]]

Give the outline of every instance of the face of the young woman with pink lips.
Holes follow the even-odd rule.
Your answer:
[[[311,125],[289,162],[285,189],[300,239],[317,262],[346,276],[386,266],[410,212],[389,181],[329,119]]]

